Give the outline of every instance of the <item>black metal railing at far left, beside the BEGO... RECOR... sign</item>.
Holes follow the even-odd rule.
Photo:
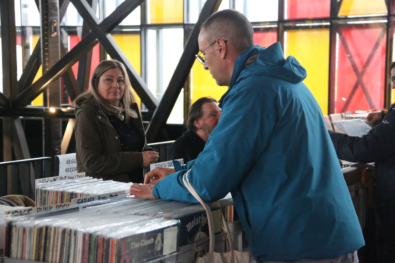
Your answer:
[[[34,200],[35,180],[50,177],[51,157],[0,162],[0,196],[22,194]]]

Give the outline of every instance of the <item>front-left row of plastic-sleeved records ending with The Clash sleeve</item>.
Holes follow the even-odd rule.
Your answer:
[[[145,262],[177,250],[179,221],[101,209],[9,218],[5,255],[44,262]]]

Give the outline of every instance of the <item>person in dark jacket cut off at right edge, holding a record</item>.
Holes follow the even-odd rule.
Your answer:
[[[395,88],[395,62],[391,64],[392,88]],[[387,114],[372,112],[368,120],[380,123],[362,137],[329,131],[339,159],[350,162],[375,162],[378,262],[395,262],[395,103]]]

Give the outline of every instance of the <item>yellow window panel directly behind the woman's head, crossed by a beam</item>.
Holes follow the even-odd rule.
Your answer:
[[[134,69],[141,75],[140,34],[113,34],[112,36]],[[140,97],[137,96],[133,88],[132,91],[137,99],[137,104],[141,106]]]

